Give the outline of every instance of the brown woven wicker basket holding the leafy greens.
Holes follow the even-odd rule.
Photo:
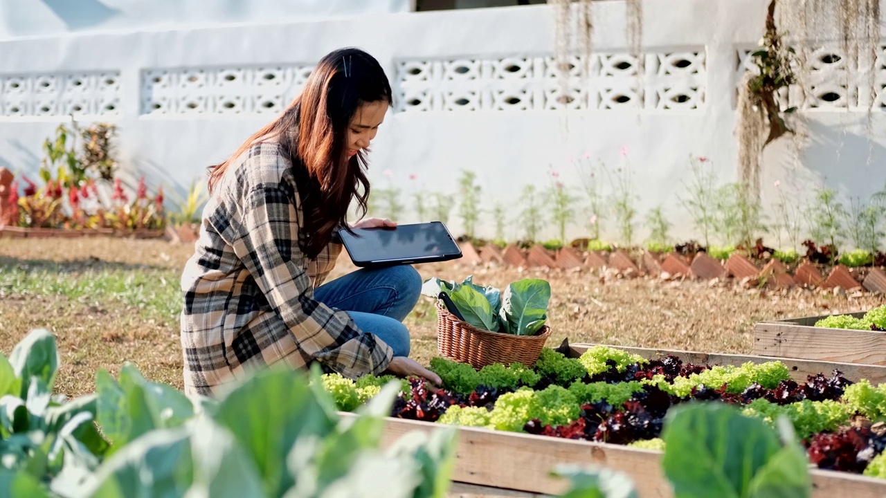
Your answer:
[[[513,362],[532,366],[539,359],[541,348],[551,335],[544,325],[534,336],[515,336],[501,332],[481,331],[455,318],[437,304],[437,352],[451,360],[470,363],[480,369],[493,363]]]

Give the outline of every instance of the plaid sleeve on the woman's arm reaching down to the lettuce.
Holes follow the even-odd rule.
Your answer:
[[[345,311],[314,299],[307,256],[296,242],[292,197],[280,183],[254,185],[241,206],[243,227],[234,250],[303,353],[345,377],[379,374],[391,362],[391,346],[361,332]]]

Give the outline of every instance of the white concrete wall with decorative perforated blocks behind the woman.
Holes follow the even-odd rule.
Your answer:
[[[555,168],[564,183],[577,187],[579,175],[569,160],[587,155],[611,168],[630,167],[638,219],[650,208],[664,206],[675,225],[673,236],[688,237],[693,230],[677,201],[682,183],[690,180],[688,156],[710,158],[707,164],[723,183],[736,177],[736,67],[740,54],[762,34],[766,2],[645,0],[644,5],[642,80],[613,66],[628,57],[625,5],[611,1],[595,6],[595,60],[609,66],[590,82],[571,82],[592,96],[590,104],[577,109],[547,108],[556,107],[557,89],[548,74],[547,58],[554,51],[548,5],[15,39],[0,42],[0,79],[9,83],[11,76],[19,76],[16,81],[35,85],[26,97],[31,114],[37,114],[33,110],[39,111],[38,101],[45,97],[34,93],[41,77],[56,77],[56,85],[70,82],[71,74],[85,74],[95,88],[89,87],[94,96],[82,97],[81,107],[101,115],[82,121],[116,123],[121,160],[148,175],[150,183],[186,185],[270,120],[318,58],[356,45],[381,61],[395,92],[402,95],[373,144],[374,185],[391,182],[406,201],[416,191],[453,193],[460,170],[473,169],[482,183],[483,207],[491,209],[495,199],[509,206],[507,235],[519,237],[522,186],[547,185],[548,168]],[[508,58],[515,58],[517,66]],[[680,72],[668,60],[689,60],[691,65]],[[467,69],[458,69],[462,66]],[[508,66],[513,73],[504,69]],[[268,67],[275,74],[270,81],[285,88],[268,89],[262,83]],[[822,77],[833,80],[828,71],[823,68]],[[226,86],[229,74],[235,77]],[[877,77],[886,84],[883,69]],[[208,78],[206,85],[203,78]],[[630,94],[638,84],[646,97],[633,95],[626,106],[601,108],[612,102],[607,97]],[[43,116],[10,116],[10,102],[18,97],[4,89],[0,164],[21,171],[39,166],[43,138],[65,121],[71,96],[79,95],[77,89],[52,85],[56,93],[44,98],[49,104],[43,107],[50,111]],[[678,94],[691,94],[688,104],[665,105]],[[520,102],[502,103],[502,98],[515,96]],[[595,103],[601,96],[604,104]],[[458,104],[460,99],[465,105]],[[418,100],[422,102],[416,104]],[[262,102],[271,105],[271,113],[260,113]],[[113,109],[105,109],[108,103]],[[802,165],[791,159],[789,139],[767,149],[767,200],[774,198],[776,180],[782,187],[797,179],[804,185],[827,183],[847,199],[865,198],[886,183],[884,114],[879,109],[873,113],[872,142],[866,133],[867,113],[849,107],[802,111],[811,133]],[[385,170],[391,175],[382,175]],[[450,225],[459,232],[456,218],[454,214]],[[574,223],[570,236],[584,235],[583,224]],[[485,214],[480,227],[481,235],[491,236],[492,216]],[[607,232],[610,239],[618,238],[613,223],[607,224]],[[638,238],[644,233],[639,230]],[[554,230],[543,234],[554,236]]]

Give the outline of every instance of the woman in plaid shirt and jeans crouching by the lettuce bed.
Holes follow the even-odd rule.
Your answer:
[[[333,51],[282,115],[210,168],[211,196],[182,276],[185,393],[218,393],[276,363],[439,384],[408,359],[401,321],[421,289],[414,268],[360,269],[323,284],[354,198],[366,214],[366,153],[391,101],[375,58]],[[369,218],[350,228],[379,226],[394,223]]]

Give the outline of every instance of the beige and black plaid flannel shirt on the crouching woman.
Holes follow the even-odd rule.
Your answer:
[[[319,361],[351,378],[391,362],[384,341],[314,299],[341,245],[330,243],[314,260],[299,249],[291,168],[279,144],[255,144],[206,203],[182,275],[185,393],[218,393],[246,371],[279,362],[298,369]]]

